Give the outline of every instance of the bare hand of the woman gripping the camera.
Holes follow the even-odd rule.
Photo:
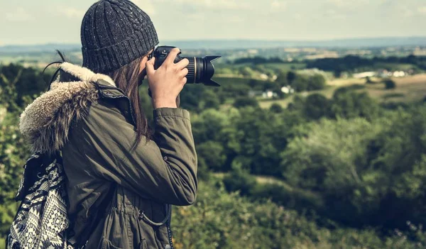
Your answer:
[[[175,58],[180,52],[179,48],[173,48],[163,62],[163,65],[154,69],[155,57],[146,62],[146,76],[148,86],[151,89],[153,108],[161,107],[177,108],[176,99],[187,82],[186,66],[189,60],[183,59],[175,63]]]

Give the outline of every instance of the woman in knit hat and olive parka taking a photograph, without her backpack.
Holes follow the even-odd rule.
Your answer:
[[[197,154],[190,114],[178,108],[188,60],[179,50],[154,70],[157,33],[128,0],[89,8],[83,67],[64,62],[50,90],[28,106],[21,131],[33,151],[62,151],[68,214],[85,248],[173,248],[170,205],[193,204]],[[139,104],[148,78],[155,132]]]

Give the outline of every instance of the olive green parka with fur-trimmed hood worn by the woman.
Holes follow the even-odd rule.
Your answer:
[[[173,248],[171,206],[197,197],[197,154],[185,109],[153,111],[136,138],[129,98],[107,75],[68,62],[21,115],[33,151],[62,151],[72,231],[85,248]],[[144,137],[145,138],[145,137]]]

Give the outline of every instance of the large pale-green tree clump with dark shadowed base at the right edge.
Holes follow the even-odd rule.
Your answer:
[[[425,108],[300,126],[281,153],[283,177],[320,193],[320,214],[348,226],[426,223]]]

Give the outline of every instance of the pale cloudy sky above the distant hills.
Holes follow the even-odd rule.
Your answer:
[[[80,44],[94,0],[0,0],[0,45]],[[426,0],[133,0],[163,40],[426,36]]]

